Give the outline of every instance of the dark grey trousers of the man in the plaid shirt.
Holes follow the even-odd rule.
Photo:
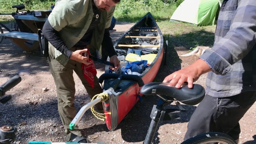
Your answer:
[[[255,100],[256,91],[223,98],[205,95],[189,120],[184,140],[206,132],[221,132],[239,139],[239,120]]]

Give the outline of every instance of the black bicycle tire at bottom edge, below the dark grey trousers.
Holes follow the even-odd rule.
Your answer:
[[[207,143],[221,143],[221,144],[237,144],[232,137],[227,134],[218,132],[208,132],[191,137],[181,144],[207,144]]]

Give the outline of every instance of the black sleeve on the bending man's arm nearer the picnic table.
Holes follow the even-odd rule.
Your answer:
[[[43,27],[43,35],[53,45],[54,48],[63,53],[66,57],[71,57],[73,51],[69,50],[68,47],[64,44],[64,42],[58,36],[58,31],[53,29],[48,19],[46,20]]]

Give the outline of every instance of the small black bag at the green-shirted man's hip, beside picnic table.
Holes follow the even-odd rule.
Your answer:
[[[43,57],[48,57],[49,55],[49,48],[48,48],[48,40],[44,37],[43,31],[38,29],[38,42],[40,46],[40,52]]]

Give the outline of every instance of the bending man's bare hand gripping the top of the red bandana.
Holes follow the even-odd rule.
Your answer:
[[[89,59],[89,53],[86,52],[86,51],[88,51],[88,50],[87,50],[87,49],[76,50],[76,51],[74,51],[74,52],[72,53],[70,59],[88,65],[88,64],[92,63],[92,61],[91,61],[91,62],[88,62],[88,61],[87,61],[87,60]],[[86,55],[83,56],[83,55],[82,55],[83,53],[86,53]]]

